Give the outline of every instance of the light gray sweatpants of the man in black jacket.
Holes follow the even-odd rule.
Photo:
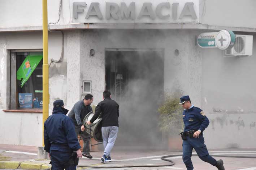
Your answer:
[[[110,156],[110,152],[117,138],[118,127],[117,126],[101,127],[101,133],[103,138],[104,155]]]

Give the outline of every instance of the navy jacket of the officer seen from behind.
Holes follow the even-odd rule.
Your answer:
[[[61,107],[53,108],[52,115],[44,122],[44,150],[72,152],[80,148],[73,121]]]

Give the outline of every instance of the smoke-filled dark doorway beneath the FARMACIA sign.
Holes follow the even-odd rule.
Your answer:
[[[105,83],[120,105],[117,144],[161,142],[157,108],[164,92],[163,50],[106,50]]]

